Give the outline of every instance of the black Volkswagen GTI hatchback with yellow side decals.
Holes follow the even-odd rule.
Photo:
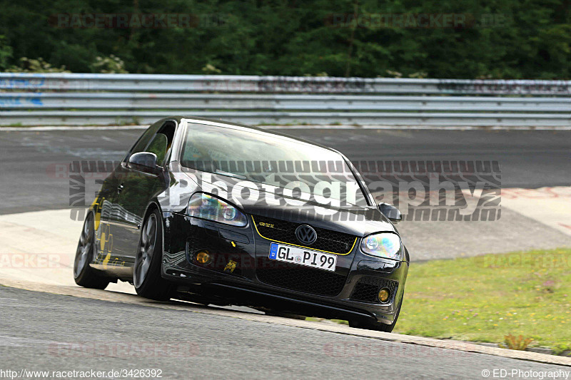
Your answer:
[[[392,331],[409,255],[341,153],[202,118],[151,125],[103,182],[74,262],[82,287],[236,304]]]

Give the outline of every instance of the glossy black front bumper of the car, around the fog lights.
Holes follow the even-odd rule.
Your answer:
[[[230,304],[329,319],[375,319],[386,324],[393,322],[403,299],[408,262],[370,257],[360,252],[359,244],[347,255],[338,255],[335,274],[310,269],[318,271],[315,274],[320,281],[312,284],[307,276],[280,272],[286,267],[271,269],[285,277],[262,275],[263,270],[268,272],[266,263],[274,261],[267,259],[272,240],[258,233],[251,218],[246,227],[232,227],[170,212],[163,217],[162,275],[188,292],[208,294]],[[201,250],[213,257],[208,265],[193,260]],[[288,283],[292,280],[304,284]],[[392,291],[384,304],[373,294],[380,286]]]

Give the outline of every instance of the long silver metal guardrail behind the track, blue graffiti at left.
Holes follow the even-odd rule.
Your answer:
[[[0,73],[0,125],[146,124],[182,114],[252,124],[571,126],[570,96],[571,81]]]

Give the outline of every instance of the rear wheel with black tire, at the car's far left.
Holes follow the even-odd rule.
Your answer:
[[[74,279],[80,287],[105,289],[109,284],[109,279],[99,276],[96,270],[89,266],[94,261],[94,250],[94,214],[89,212],[85,218],[84,227],[81,230],[79,242],[77,243],[76,258],[74,260]]]

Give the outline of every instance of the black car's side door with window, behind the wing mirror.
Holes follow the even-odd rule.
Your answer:
[[[148,138],[141,140],[130,155],[139,152],[151,152],[157,156],[157,165],[164,167],[169,145],[176,123],[167,120],[159,123],[158,128],[149,128],[152,132]],[[171,133],[172,130],[172,133]],[[113,241],[116,255],[126,263],[134,262],[138,247],[143,218],[149,202],[166,188],[162,174],[145,173],[128,165],[128,158],[123,162],[123,175],[118,181],[118,197],[116,202],[115,232]]]

